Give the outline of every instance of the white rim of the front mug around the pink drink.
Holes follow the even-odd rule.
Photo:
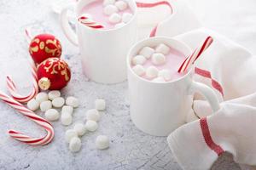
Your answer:
[[[178,77],[178,78],[175,78],[173,79],[172,81],[168,81],[168,82],[152,82],[150,80],[147,80],[143,77],[139,77],[134,71],[132,71],[131,69],[131,57],[133,57],[131,54],[133,53],[133,50],[134,48],[137,48],[137,46],[139,46],[140,44],[142,44],[143,42],[148,42],[148,41],[155,41],[157,39],[166,39],[166,41],[169,41],[169,40],[172,40],[172,41],[176,41],[178,43],[180,43],[183,47],[187,48],[189,53],[191,53],[191,49],[189,48],[188,45],[186,45],[184,42],[181,42],[177,39],[174,39],[174,38],[171,38],[171,37],[149,37],[149,38],[145,38],[137,43],[135,43],[131,49],[129,50],[129,53],[127,55],[127,60],[126,60],[126,64],[127,64],[127,67],[129,69],[129,71],[131,71],[131,74],[133,74],[133,76],[137,77],[138,79],[140,79],[141,81],[143,82],[148,82],[148,83],[161,83],[161,84],[168,84],[168,83],[174,83],[174,82],[179,82],[181,80],[183,80],[184,78],[186,77],[189,77],[189,75],[191,74],[192,70],[193,69],[189,69],[189,71],[187,71],[187,73],[185,75],[183,75],[183,77]],[[173,48],[173,47],[172,47]],[[181,52],[183,53],[183,52]]]

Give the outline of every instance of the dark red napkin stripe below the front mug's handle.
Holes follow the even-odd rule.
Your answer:
[[[203,137],[204,137],[207,145],[209,146],[209,148],[211,150],[213,150],[218,156],[223,154],[224,150],[222,149],[222,147],[220,145],[216,144],[212,140],[210,129],[209,129],[208,123],[207,123],[207,117],[200,119],[200,125],[201,125],[201,132],[202,132]]]

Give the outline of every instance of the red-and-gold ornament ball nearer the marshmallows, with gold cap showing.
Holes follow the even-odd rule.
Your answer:
[[[60,90],[67,86],[71,72],[67,63],[60,58],[45,59],[38,65],[38,86],[42,90]]]

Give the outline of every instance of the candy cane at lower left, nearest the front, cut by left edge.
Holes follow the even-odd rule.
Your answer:
[[[39,126],[44,127],[46,131],[46,135],[44,135],[44,137],[32,138],[24,133],[20,133],[15,130],[9,130],[9,135],[12,138],[19,140],[20,142],[31,144],[31,145],[44,145],[44,144],[49,144],[49,142],[51,142],[51,140],[55,136],[55,133],[54,133],[54,128],[48,121],[36,115],[34,112],[26,109],[24,105],[21,105],[19,102],[15,101],[15,99],[12,99],[7,94],[4,94],[1,91],[0,91],[0,99],[2,99],[3,102],[15,108],[16,111],[19,111],[21,114],[29,117],[33,122],[36,122]]]

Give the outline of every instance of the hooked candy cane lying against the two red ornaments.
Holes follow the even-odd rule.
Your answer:
[[[16,101],[20,103],[27,103],[29,100],[33,99],[39,92],[37,68],[33,63],[31,63],[31,70],[32,70],[32,78],[33,78],[33,89],[32,89],[32,92],[27,96],[22,96],[18,94],[15,86],[15,82],[13,82],[12,78],[9,76],[6,78],[7,88],[9,90],[9,93]]]

